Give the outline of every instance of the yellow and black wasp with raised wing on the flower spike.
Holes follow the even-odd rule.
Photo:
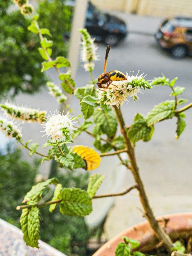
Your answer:
[[[110,48],[111,48],[111,46],[108,45],[107,49],[106,49],[106,54],[105,54],[103,73],[98,77],[98,82],[97,82],[97,86],[98,86],[99,90],[104,91],[104,92],[106,91],[106,89],[109,88],[110,84],[112,84],[113,81],[127,80],[126,76],[118,70],[113,70],[108,73],[105,72]],[[112,84],[112,85],[114,85],[114,84]],[[114,86],[116,86],[116,85],[114,85]],[[118,86],[116,86],[116,87],[118,87]]]

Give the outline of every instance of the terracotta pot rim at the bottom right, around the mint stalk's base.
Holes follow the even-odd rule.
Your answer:
[[[178,238],[188,238],[192,236],[192,212],[169,214],[158,217],[157,220],[160,221],[159,223],[162,226],[165,226],[165,220],[168,220],[165,230],[167,234],[170,235],[172,241],[175,241]],[[114,238],[110,239],[92,256],[114,256],[118,242],[123,241],[121,239],[122,236],[127,236],[128,238],[140,241],[140,246],[137,250],[142,252],[145,252],[146,248],[148,248],[148,250],[153,249],[158,243],[158,239],[148,221],[144,221],[124,230]]]

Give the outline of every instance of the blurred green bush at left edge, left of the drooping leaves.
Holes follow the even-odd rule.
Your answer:
[[[22,159],[21,150],[0,156],[0,218],[20,227],[20,211],[16,206],[35,184],[34,179],[40,162],[29,163]]]

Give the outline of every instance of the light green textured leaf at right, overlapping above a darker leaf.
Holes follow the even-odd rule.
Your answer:
[[[160,104],[154,106],[154,108],[148,113],[148,126],[156,124],[161,120],[172,118],[174,116],[174,106],[174,100],[166,100],[165,102],[161,102]]]

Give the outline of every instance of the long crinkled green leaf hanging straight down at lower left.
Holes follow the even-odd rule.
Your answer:
[[[26,245],[39,248],[38,239],[40,230],[39,209],[32,207],[30,209],[23,209],[20,217],[20,224],[23,232],[23,239]]]

